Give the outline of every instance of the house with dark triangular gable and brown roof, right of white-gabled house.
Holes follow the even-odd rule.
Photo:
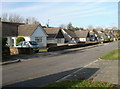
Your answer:
[[[47,44],[64,44],[65,38],[61,29],[57,27],[43,28],[47,33]]]

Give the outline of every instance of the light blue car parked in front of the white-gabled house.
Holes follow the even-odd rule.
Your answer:
[[[33,51],[39,52],[39,44],[36,41],[22,41],[16,45],[19,48],[33,48]]]

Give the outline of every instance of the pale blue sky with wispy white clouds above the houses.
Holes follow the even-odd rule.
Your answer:
[[[118,26],[118,2],[2,2],[2,13],[35,17],[42,25],[58,27],[69,22],[75,27]]]

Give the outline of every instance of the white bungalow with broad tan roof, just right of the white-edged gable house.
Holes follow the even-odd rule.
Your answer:
[[[79,42],[90,41],[90,33],[87,30],[75,31],[76,36],[78,37]]]

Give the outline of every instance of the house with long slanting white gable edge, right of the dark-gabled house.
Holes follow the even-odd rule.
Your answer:
[[[76,41],[78,39],[77,35],[75,34],[74,30],[70,29],[62,29],[63,35],[65,37],[65,43]]]

